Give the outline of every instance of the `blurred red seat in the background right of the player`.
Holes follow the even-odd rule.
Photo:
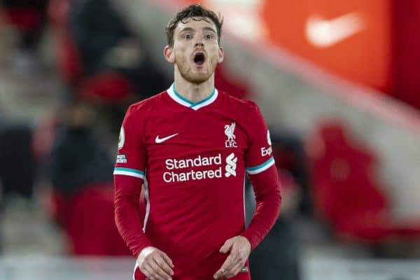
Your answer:
[[[306,146],[314,207],[337,236],[367,242],[420,237],[419,225],[393,225],[377,157],[339,121],[315,127]]]

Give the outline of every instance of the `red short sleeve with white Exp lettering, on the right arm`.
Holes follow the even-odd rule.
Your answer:
[[[274,165],[272,142],[267,124],[254,103],[249,118],[247,125],[250,141],[245,156],[246,172],[258,174]]]

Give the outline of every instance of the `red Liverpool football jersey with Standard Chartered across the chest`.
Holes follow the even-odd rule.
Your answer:
[[[266,176],[260,178],[265,183],[253,181],[255,215],[258,195],[264,213],[245,230],[246,172]],[[172,85],[130,106],[114,175],[121,235],[134,255],[146,246],[167,253],[175,265],[173,279],[213,279],[228,255],[219,253],[227,239],[244,235],[254,248],[279,214],[271,141],[258,106],[216,89],[193,103]],[[136,212],[141,183],[144,225]]]

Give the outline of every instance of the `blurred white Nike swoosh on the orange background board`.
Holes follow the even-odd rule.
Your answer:
[[[311,15],[306,23],[306,36],[317,48],[328,48],[362,31],[363,16],[358,12],[347,13],[331,20]]]

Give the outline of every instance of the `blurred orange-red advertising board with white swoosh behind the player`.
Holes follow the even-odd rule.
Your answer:
[[[323,69],[384,92],[395,89],[391,0],[203,0],[225,29],[274,43]]]

